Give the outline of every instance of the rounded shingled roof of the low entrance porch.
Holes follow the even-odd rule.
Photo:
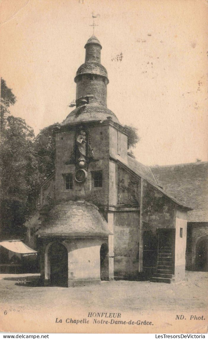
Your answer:
[[[111,234],[98,208],[86,201],[54,206],[37,232],[40,237],[107,237]]]

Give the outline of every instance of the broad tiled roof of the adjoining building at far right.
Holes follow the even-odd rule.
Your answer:
[[[189,222],[208,222],[208,162],[151,167],[164,190],[193,208]]]

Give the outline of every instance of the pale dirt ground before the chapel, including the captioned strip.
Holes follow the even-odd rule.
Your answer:
[[[38,276],[33,277],[33,279],[37,278]],[[25,286],[17,284],[17,280],[20,279],[18,275],[0,275],[0,279],[2,279],[0,280],[0,321],[3,331],[207,332],[208,273],[206,272],[186,272],[185,280],[180,283],[112,281],[74,288]],[[22,279],[31,280],[31,277],[27,275]],[[102,318],[97,315],[89,317],[89,312],[107,314]],[[120,313],[121,316],[111,320],[109,313]],[[177,316],[180,319],[176,319]],[[72,323],[72,321],[68,323],[67,321],[70,320],[67,319],[73,321],[86,319],[89,323]],[[98,323],[101,320],[108,320],[110,324],[109,322]],[[126,321],[126,324],[116,324],[113,320]],[[138,320],[151,321],[151,324],[139,324]],[[132,325],[133,321],[137,322],[137,325]]]

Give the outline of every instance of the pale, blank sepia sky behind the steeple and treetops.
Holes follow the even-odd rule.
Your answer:
[[[208,161],[205,0],[1,0],[1,77],[17,98],[11,114],[37,135],[72,111],[92,12],[110,81],[108,108],[138,128],[136,159]]]

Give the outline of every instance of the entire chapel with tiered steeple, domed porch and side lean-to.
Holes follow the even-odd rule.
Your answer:
[[[85,49],[76,108],[56,127],[55,172],[41,185],[41,279],[63,286],[181,280],[191,208],[128,156],[128,130],[107,107],[102,46],[93,35]]]

